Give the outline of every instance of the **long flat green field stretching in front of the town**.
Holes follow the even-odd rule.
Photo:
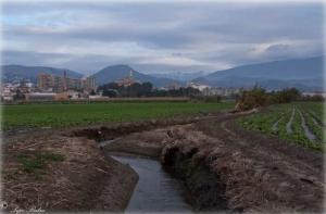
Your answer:
[[[138,122],[231,109],[233,102],[112,102],[2,105],[2,129]]]

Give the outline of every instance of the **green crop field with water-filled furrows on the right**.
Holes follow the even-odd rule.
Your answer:
[[[322,102],[296,102],[279,104],[237,119],[250,130],[278,136],[305,148],[324,150],[324,111]]]

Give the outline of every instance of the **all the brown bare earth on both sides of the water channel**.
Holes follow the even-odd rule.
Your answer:
[[[236,126],[238,116],[221,113],[8,138],[2,199],[8,210],[123,211],[137,174],[105,156],[105,150],[160,160],[184,181],[196,211],[322,213],[324,155],[244,130]],[[48,163],[38,178],[23,172],[17,154],[43,150],[64,160]]]

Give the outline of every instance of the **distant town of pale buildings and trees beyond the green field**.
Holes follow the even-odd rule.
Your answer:
[[[141,88],[141,86],[145,85],[147,85],[147,92],[137,93],[139,87]],[[128,91],[136,90],[136,93],[121,92],[122,90],[126,91],[127,88],[129,88]],[[240,89],[241,88],[210,87],[192,81],[188,83],[186,87],[181,87],[177,83],[172,81],[165,87],[153,88],[151,83],[141,83],[134,78],[133,70],[129,71],[128,76],[103,86],[98,86],[96,78],[92,76],[72,78],[67,76],[64,71],[61,76],[39,73],[36,84],[29,79],[21,79],[4,83],[0,88],[1,101],[4,103],[15,101],[105,100],[113,97],[221,96],[231,98],[239,93]]]

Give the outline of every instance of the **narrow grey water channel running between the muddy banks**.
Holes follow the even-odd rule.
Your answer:
[[[191,212],[183,197],[183,186],[163,171],[158,161],[111,155],[129,164],[139,175],[138,184],[125,212]]]

